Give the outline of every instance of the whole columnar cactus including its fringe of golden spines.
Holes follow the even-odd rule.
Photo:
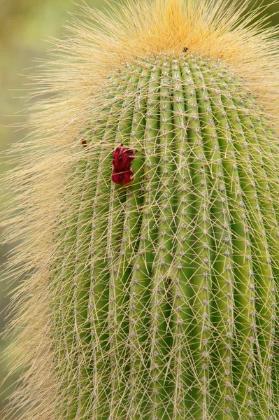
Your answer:
[[[57,45],[6,176],[7,418],[279,419],[278,41],[247,4],[85,7]]]

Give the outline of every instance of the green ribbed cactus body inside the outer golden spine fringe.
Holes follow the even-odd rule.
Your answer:
[[[128,186],[110,179],[120,144]],[[56,419],[276,420],[279,149],[256,95],[220,60],[134,60],[75,151],[50,275]]]

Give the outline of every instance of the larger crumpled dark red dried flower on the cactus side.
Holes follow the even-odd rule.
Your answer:
[[[134,181],[134,172],[131,170],[131,161],[136,151],[124,147],[123,143],[113,151],[113,174],[111,179],[120,186],[126,186]]]

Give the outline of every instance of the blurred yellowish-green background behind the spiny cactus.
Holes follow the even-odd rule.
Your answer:
[[[82,3],[81,0],[76,1]],[[109,4],[110,0],[107,3]],[[114,0],[113,3],[118,1]],[[278,13],[279,3],[272,0],[252,0],[251,8],[257,8],[261,3],[269,5],[263,15]],[[104,0],[87,0],[87,4],[102,10],[106,7]],[[36,58],[47,57],[46,50],[49,44],[45,40],[49,36],[59,38],[66,33],[63,25],[71,19],[68,12],[75,10],[78,10],[78,4],[71,0],[0,0],[0,151],[24,137],[23,130],[16,130],[10,125],[24,120],[21,111],[27,104],[20,97],[24,96],[24,90],[28,87],[27,75],[32,73],[31,68],[36,66]],[[278,25],[279,16],[271,16],[269,22],[270,25]],[[2,158],[0,174],[8,168]],[[5,200],[0,192],[0,205],[3,205]],[[9,249],[8,245],[0,246],[0,274],[3,272],[3,263]],[[8,320],[8,313],[4,308],[9,301],[9,290],[9,284],[0,282],[0,332]],[[0,340],[0,353],[7,344],[6,341]],[[6,375],[5,367],[5,363],[0,364],[0,382]],[[11,384],[12,380],[0,388],[0,412],[13,388]]]

